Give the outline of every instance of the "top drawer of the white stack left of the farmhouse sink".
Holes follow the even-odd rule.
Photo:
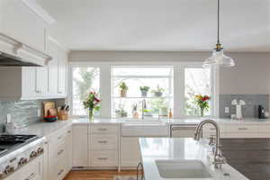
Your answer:
[[[89,131],[88,133],[94,134],[94,133],[102,133],[102,134],[108,134],[108,133],[117,133],[118,126],[117,125],[89,125]]]

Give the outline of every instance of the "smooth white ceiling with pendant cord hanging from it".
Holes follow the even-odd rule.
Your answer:
[[[217,0],[37,0],[68,49],[209,51]],[[270,51],[270,0],[220,0],[229,51]]]

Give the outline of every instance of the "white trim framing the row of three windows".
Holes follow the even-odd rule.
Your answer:
[[[138,65],[139,64],[139,65]],[[72,67],[99,67],[100,68],[100,96],[102,99],[101,105],[102,109],[100,112],[100,118],[112,118],[112,67],[121,66],[121,67],[173,67],[173,103],[174,103],[174,118],[198,118],[196,116],[187,116],[184,115],[184,67],[202,67],[202,62],[118,62],[118,61],[73,61],[68,63],[68,95],[66,102],[70,104],[70,110],[72,111]],[[181,76],[182,75],[182,76]],[[219,79],[220,79],[220,67],[211,67],[211,91],[213,96],[213,101],[211,105],[213,110],[211,112],[211,117],[219,117]],[[180,82],[180,83],[179,83]],[[181,85],[182,84],[182,85]],[[110,88],[103,88],[103,85]],[[105,107],[104,107],[105,105]],[[82,116],[74,116],[71,114],[71,117],[85,118]]]

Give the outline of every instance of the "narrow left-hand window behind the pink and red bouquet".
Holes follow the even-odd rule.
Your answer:
[[[84,108],[83,101],[89,91],[99,92],[99,71],[98,67],[71,67],[72,115],[87,115],[87,110]]]

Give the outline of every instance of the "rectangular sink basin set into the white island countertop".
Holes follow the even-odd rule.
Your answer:
[[[211,178],[199,160],[156,160],[156,164],[163,178]]]

